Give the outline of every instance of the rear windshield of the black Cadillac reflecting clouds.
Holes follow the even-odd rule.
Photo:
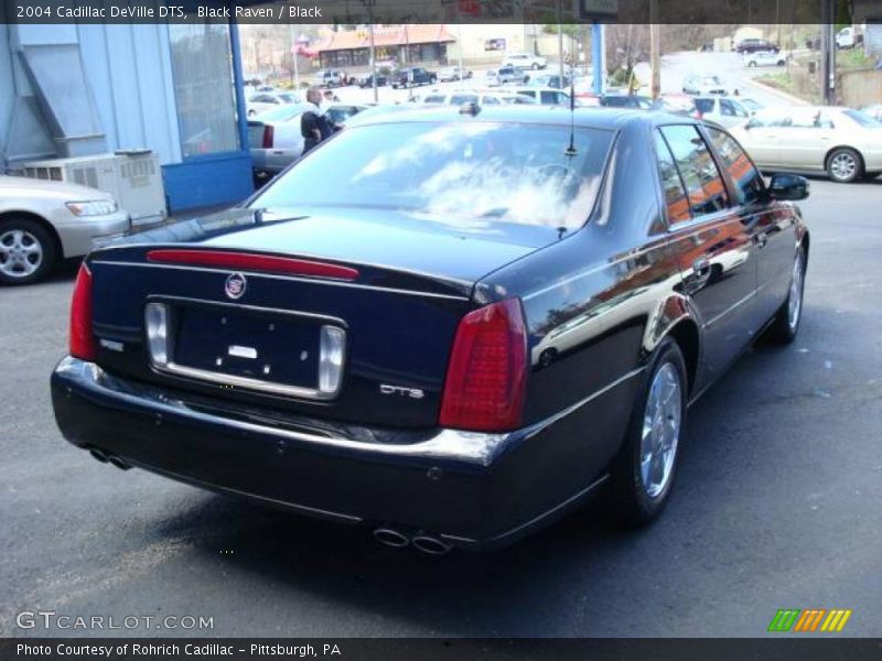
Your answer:
[[[581,227],[600,187],[610,131],[464,121],[345,129],[252,203],[410,212],[426,220],[475,219]]]

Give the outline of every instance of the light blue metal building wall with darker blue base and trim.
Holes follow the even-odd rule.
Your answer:
[[[238,69],[235,24],[230,25],[230,35],[234,68]],[[40,44],[79,45],[108,150],[148,148],[157,152],[171,213],[235,203],[252,192],[240,71],[236,72],[237,107],[243,117],[238,124],[240,149],[182,156],[169,31],[164,24],[0,24],[0,150],[10,126],[15,90],[32,94],[17,48]]]

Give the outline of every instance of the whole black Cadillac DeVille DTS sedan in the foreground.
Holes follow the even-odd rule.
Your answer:
[[[95,250],[52,378],[73,444],[442,553],[609,481],[668,500],[687,404],[796,335],[808,231],[724,131],[558,108],[342,131],[244,207]]]

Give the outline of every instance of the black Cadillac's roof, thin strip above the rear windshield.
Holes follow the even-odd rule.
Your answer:
[[[698,123],[688,117],[667,112],[635,110],[631,108],[576,108],[566,106],[484,106],[476,116],[463,113],[459,106],[417,106],[395,113],[378,115],[361,126],[404,122],[499,121],[569,126],[607,130],[622,130],[632,124],[657,126],[664,123]]]

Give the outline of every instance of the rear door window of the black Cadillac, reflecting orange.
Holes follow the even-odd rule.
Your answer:
[[[662,134],[686,185],[692,215],[698,217],[724,209],[728,198],[723,180],[696,127],[664,127]]]

